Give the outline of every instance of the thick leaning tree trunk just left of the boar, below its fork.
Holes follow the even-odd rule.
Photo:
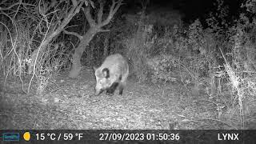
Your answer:
[[[91,41],[92,38],[94,38],[94,35],[98,33],[98,28],[96,27],[91,27],[86,34],[80,39],[80,43],[78,47],[74,50],[74,54],[72,56],[73,61],[72,61],[72,67],[70,70],[69,77],[70,78],[76,78],[78,74],[80,74],[81,71],[81,57],[86,49],[86,46],[89,45],[89,42]]]

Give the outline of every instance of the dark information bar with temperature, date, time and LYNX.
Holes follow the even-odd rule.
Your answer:
[[[1,143],[246,143],[256,130],[0,130]]]

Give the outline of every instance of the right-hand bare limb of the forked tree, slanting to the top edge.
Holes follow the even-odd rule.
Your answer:
[[[121,5],[122,5],[122,0],[118,0],[118,2],[116,2],[115,0],[112,0],[112,5],[110,6],[109,15],[107,16],[105,21],[100,23],[100,25],[106,26],[108,23],[110,23],[111,18],[113,18],[114,14],[118,11]]]

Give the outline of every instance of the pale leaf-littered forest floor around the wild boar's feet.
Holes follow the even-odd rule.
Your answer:
[[[68,78],[67,74],[51,80],[42,95],[25,94],[18,79],[8,78],[6,90],[1,82],[0,130],[234,129],[219,120],[224,113],[207,100],[203,91],[182,83],[161,86],[128,78],[124,94],[94,96],[92,70],[82,70],[78,78]],[[25,88],[28,82],[29,78],[23,80]]]

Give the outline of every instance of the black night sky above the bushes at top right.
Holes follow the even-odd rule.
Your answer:
[[[238,9],[243,1],[244,0],[224,0],[225,5],[228,5],[230,8],[230,16],[238,16]],[[196,18],[206,19],[210,11],[214,12],[214,10],[216,10],[214,2],[216,2],[216,0],[150,0],[148,7],[173,8],[174,10],[180,11],[183,15],[184,22],[192,22]],[[137,6],[137,9],[139,9],[138,7],[140,6],[138,0],[128,0],[126,4],[130,8],[134,8],[135,5],[135,7]]]

